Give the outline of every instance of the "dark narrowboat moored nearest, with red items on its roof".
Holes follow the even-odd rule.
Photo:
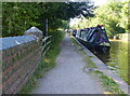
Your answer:
[[[110,49],[110,42],[103,25],[77,30],[76,39],[95,52],[106,53]]]

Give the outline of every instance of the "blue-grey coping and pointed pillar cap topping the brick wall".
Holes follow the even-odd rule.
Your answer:
[[[39,30],[37,27],[29,28],[28,30],[25,31],[25,35],[26,36],[0,38],[0,42],[2,43],[0,51],[16,46],[18,44],[27,43],[34,40],[37,40],[38,42],[39,39],[42,38],[42,31]]]

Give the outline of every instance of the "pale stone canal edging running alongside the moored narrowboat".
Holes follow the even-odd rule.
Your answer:
[[[82,45],[75,37],[73,38],[83,49],[87,55],[91,56],[90,59],[95,64],[98,69],[105,76],[110,77],[119,85],[119,88],[125,92],[125,94],[130,95],[130,85],[126,81],[123,81],[118,73],[115,73],[113,70],[108,69],[108,67],[100,58],[98,58],[92,52],[90,52],[84,45]]]

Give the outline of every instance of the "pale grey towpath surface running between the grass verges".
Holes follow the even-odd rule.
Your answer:
[[[89,73],[83,72],[82,56],[75,51],[68,35],[61,42],[55,68],[39,80],[34,94],[103,94],[103,87]]]

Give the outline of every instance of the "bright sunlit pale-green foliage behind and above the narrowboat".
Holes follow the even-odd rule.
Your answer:
[[[81,29],[103,24],[105,25],[109,37],[128,32],[128,29],[130,28],[130,24],[128,24],[128,3],[129,0],[126,0],[125,2],[109,0],[106,4],[94,10],[94,17],[80,19],[73,28]]]

